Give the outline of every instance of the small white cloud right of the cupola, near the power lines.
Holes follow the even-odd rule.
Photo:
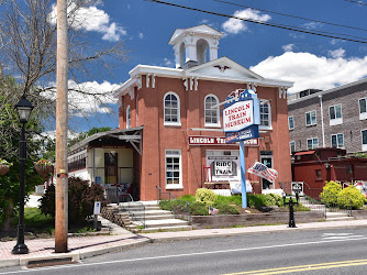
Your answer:
[[[259,11],[253,10],[253,9],[246,9],[242,11],[236,11],[234,14],[236,18],[242,19],[249,19],[249,20],[256,20],[256,21],[269,21],[271,19],[268,14],[260,14]],[[227,21],[225,21],[222,24],[222,28],[227,33],[237,34],[240,32],[246,32],[248,30],[247,25],[245,24],[245,21],[231,18]]]

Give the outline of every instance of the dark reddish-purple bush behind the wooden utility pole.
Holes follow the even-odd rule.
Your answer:
[[[93,215],[94,201],[104,202],[103,187],[97,184],[89,186],[88,180],[79,177],[68,178],[68,220],[73,224],[86,222]],[[40,199],[42,213],[55,217],[55,186],[51,185]]]

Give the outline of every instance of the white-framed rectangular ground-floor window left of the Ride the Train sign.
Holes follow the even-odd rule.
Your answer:
[[[166,189],[182,188],[181,151],[166,150]]]

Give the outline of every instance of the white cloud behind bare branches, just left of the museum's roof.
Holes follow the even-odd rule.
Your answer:
[[[55,86],[55,84],[51,84]],[[68,102],[70,116],[75,117],[89,117],[96,113],[110,113],[111,109],[109,105],[116,103],[116,99],[113,97],[113,92],[120,87],[116,84],[110,84],[103,81],[101,84],[97,81],[88,81],[82,84],[76,84],[73,80],[68,82],[71,89],[68,92]],[[90,95],[77,92],[76,90],[84,90],[88,94],[101,94],[100,96],[93,97]],[[45,91],[43,96],[55,100],[55,91]]]

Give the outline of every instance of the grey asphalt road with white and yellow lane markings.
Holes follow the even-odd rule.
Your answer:
[[[182,240],[0,274],[367,274],[367,228]]]

